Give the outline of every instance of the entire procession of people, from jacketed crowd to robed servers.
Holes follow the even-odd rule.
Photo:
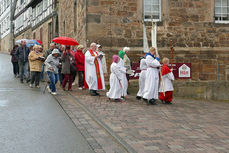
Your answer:
[[[20,81],[30,81],[30,87],[40,88],[40,79],[46,72],[49,78],[48,90],[56,95],[56,84],[59,81],[65,91],[72,90],[75,78],[78,74],[79,89],[89,89],[91,96],[99,96],[99,90],[105,90],[104,74],[107,74],[105,54],[102,46],[96,43],[90,45],[90,49],[83,53],[84,47],[59,46],[50,44],[50,49],[43,53],[42,46],[26,47],[22,41],[20,47],[15,46],[11,52],[15,76],[20,76]],[[110,66],[110,89],[106,96],[110,100],[122,101],[128,94],[131,60],[128,57],[129,47],[124,47],[118,55],[113,55]],[[156,56],[156,49],[151,47],[149,53],[140,61],[139,91],[136,99],[143,99],[148,104],[156,105],[159,98],[165,104],[171,104],[173,95],[172,80],[174,76],[169,69],[169,59],[163,58],[163,66]],[[159,85],[160,84],[160,85]],[[159,96],[160,92],[160,96]]]

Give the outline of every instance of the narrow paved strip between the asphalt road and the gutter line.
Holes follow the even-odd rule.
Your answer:
[[[79,103],[74,102],[75,99],[70,97],[69,94],[60,93],[54,97],[80,130],[95,153],[127,152],[125,148],[117,144],[116,140],[108,135],[106,131],[101,130],[101,126],[94,121],[94,118],[91,118]]]

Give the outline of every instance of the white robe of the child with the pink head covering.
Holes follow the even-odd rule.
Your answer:
[[[107,92],[107,97],[111,99],[119,99],[124,94],[124,89],[121,85],[121,71],[117,63],[111,64],[110,74],[110,90]]]

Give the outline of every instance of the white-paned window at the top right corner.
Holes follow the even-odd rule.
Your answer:
[[[215,22],[229,23],[229,0],[215,0]]]

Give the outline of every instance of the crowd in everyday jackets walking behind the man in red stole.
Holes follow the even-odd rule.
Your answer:
[[[77,48],[72,46],[56,46],[50,44],[49,50],[45,53],[40,45],[30,48],[26,46],[26,41],[21,41],[20,46],[15,45],[11,51],[11,61],[15,77],[20,78],[20,82],[30,82],[29,86],[40,88],[40,80],[47,74],[49,86],[48,91],[56,95],[56,84],[65,90],[68,83],[68,90],[72,90],[73,81],[78,73],[79,89],[84,88],[84,63],[85,56],[82,45]]]

